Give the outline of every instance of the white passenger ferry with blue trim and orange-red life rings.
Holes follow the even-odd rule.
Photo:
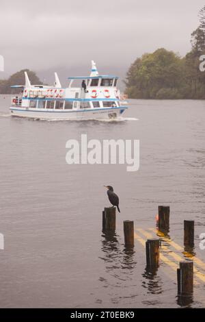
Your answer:
[[[68,77],[68,88],[62,88],[55,73],[55,86],[31,85],[25,72],[21,94],[12,97],[12,116],[34,119],[117,119],[128,108],[117,88],[118,77],[98,75],[92,61],[89,77]],[[74,85],[78,82],[78,86]]]

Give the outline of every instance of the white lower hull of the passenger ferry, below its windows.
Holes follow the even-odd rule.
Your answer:
[[[26,117],[31,119],[49,120],[103,120],[118,119],[122,116],[127,106],[119,108],[92,108],[86,110],[43,110],[11,107],[12,116]]]

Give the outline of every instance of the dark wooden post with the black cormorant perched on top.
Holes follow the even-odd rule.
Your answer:
[[[102,211],[102,232],[115,232],[116,229],[116,208],[105,208]]]

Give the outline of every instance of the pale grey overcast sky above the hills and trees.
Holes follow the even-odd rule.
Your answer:
[[[205,0],[1,0],[5,72],[90,69],[92,59],[98,69],[124,68],[159,47],[184,55],[204,5]]]

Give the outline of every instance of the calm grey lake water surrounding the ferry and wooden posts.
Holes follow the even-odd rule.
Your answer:
[[[131,100],[125,120],[31,121],[9,116],[0,98],[0,306],[2,308],[179,308],[170,246],[155,274],[145,249],[124,249],[123,221],[135,221],[143,240],[156,236],[158,206],[170,206],[170,237],[183,245],[183,221],[195,220],[195,253],[205,262],[205,102]],[[138,119],[138,121],[137,121]],[[66,141],[140,140],[140,169],[68,165]],[[104,236],[103,185],[120,197],[116,235]],[[152,230],[153,229],[153,230]],[[147,235],[147,236],[146,236]],[[168,245],[169,247],[169,245]],[[162,250],[163,251],[163,250]],[[174,255],[175,254],[175,255]],[[175,266],[174,266],[175,265]],[[195,275],[188,306],[205,306],[205,269]],[[203,281],[204,276],[204,281]]]

